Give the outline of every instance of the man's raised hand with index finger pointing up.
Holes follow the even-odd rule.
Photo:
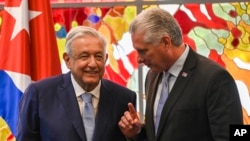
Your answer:
[[[142,123],[140,117],[132,103],[128,103],[129,111],[121,117],[119,127],[127,138],[134,138],[141,130]]]

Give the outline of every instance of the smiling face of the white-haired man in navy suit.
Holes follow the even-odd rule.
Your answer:
[[[64,53],[63,58],[77,83],[86,91],[93,90],[103,77],[107,54],[98,38],[74,39],[72,54]]]

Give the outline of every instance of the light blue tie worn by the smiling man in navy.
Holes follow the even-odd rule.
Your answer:
[[[95,129],[95,113],[94,107],[92,105],[92,94],[84,93],[82,94],[82,99],[85,102],[84,112],[82,116],[85,133],[87,136],[87,141],[92,141]]]

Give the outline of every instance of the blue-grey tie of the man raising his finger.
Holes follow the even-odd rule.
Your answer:
[[[162,89],[161,89],[161,95],[160,99],[158,102],[158,106],[156,109],[156,117],[155,117],[155,133],[157,133],[158,127],[159,127],[159,122],[161,118],[161,112],[164,107],[164,104],[168,98],[168,93],[169,93],[169,79],[171,77],[170,73],[164,73],[164,76],[162,78]]]

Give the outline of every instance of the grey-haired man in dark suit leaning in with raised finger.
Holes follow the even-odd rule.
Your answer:
[[[163,9],[143,11],[129,31],[138,62],[150,70],[145,125],[129,104],[119,122],[124,135],[147,141],[229,141],[229,126],[243,124],[232,76],[183,43],[180,26]]]

